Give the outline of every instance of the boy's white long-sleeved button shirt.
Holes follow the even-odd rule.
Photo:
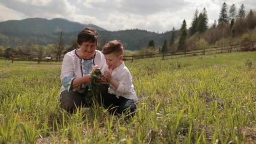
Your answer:
[[[109,71],[108,66],[106,65],[103,71]],[[117,97],[123,96],[126,99],[133,99],[134,101],[138,101],[138,97],[136,96],[136,92],[134,90],[134,86],[132,83],[132,76],[127,67],[125,67],[124,62],[120,64],[120,66],[110,72],[112,78],[114,78],[119,86],[116,89],[113,85],[109,83],[109,93],[115,94]]]

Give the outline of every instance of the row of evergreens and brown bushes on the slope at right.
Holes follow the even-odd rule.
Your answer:
[[[192,50],[203,48],[210,45],[225,45],[242,43],[243,41],[256,40],[256,11],[245,11],[242,4],[237,11],[235,4],[227,8],[223,3],[219,13],[218,23],[214,20],[211,27],[208,24],[208,14],[206,8],[202,11],[195,10],[192,18],[191,27],[187,28],[187,22],[184,19],[179,29],[179,35],[173,27],[169,39],[169,45],[165,40],[158,49],[160,52]],[[148,43],[149,49],[154,49],[154,40]]]

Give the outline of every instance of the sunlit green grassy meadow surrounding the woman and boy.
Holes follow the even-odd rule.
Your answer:
[[[0,60],[0,143],[256,142],[256,52],[161,59],[125,62],[139,97],[128,121],[61,110],[60,63]]]

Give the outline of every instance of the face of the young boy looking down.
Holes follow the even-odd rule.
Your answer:
[[[123,56],[117,56],[115,53],[104,54],[107,66],[109,69],[115,69],[121,64],[123,60]]]

